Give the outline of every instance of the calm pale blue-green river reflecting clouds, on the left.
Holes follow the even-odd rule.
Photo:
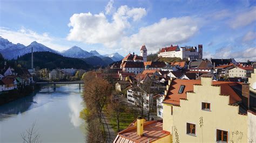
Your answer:
[[[41,142],[85,142],[83,89],[77,84],[44,86],[31,96],[0,106],[0,142],[22,142],[21,133],[35,122]]]

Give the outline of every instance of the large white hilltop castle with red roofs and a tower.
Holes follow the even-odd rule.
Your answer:
[[[180,59],[203,59],[203,45],[198,45],[197,47],[179,47],[177,46],[170,46],[161,48],[158,52],[158,56],[162,56],[165,58],[180,58]]]

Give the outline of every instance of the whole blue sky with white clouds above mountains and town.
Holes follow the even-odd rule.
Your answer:
[[[0,0],[0,36],[123,56],[203,44],[204,58],[256,61],[256,0]]]

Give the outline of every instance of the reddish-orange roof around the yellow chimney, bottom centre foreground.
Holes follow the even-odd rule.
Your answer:
[[[137,134],[137,126],[131,125],[118,133],[113,142],[153,142],[170,135],[170,132],[163,130],[161,121],[146,121],[143,124],[143,135]]]

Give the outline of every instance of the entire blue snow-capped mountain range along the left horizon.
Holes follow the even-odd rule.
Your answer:
[[[44,46],[43,44],[38,43],[36,41],[33,41],[33,42],[31,42],[30,45],[25,46],[25,45],[22,45],[19,43],[13,44],[8,39],[4,39],[3,37],[0,37],[0,53],[3,55],[3,57],[5,59],[9,59],[9,60],[17,59],[18,56],[22,56],[26,53],[30,53],[31,47],[33,47],[34,52],[47,52],[48,51],[48,52],[56,53],[56,54],[63,55],[66,57],[70,57],[70,58],[80,58],[80,59],[86,59],[86,58],[93,59],[94,58],[95,59],[96,58],[95,56],[97,56],[98,58],[105,61],[105,63],[110,63],[111,60],[112,60],[112,62],[120,61],[124,58],[122,55],[120,55],[118,53],[113,53],[113,54],[109,54],[109,55],[100,55],[96,50],[87,52],[78,46],[73,46],[66,51],[58,52],[58,51],[55,51],[54,49]],[[100,63],[99,65],[102,65],[102,64]]]

